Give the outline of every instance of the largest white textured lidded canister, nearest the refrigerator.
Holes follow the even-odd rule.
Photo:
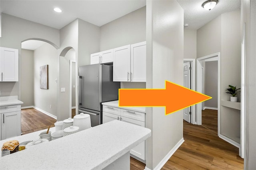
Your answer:
[[[79,131],[91,128],[90,114],[80,113],[74,116],[73,126],[78,126]]]

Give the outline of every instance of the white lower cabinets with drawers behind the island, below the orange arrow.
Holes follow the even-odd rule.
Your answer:
[[[130,124],[135,124],[137,126],[145,127],[145,113],[116,107],[103,105],[102,119],[103,123],[110,122],[112,120],[120,120]],[[143,141],[141,144],[130,150],[130,154],[142,160],[146,160],[146,142]]]

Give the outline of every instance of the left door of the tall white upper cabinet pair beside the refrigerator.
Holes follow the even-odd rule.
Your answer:
[[[113,53],[113,81],[130,82],[130,45],[114,48]]]

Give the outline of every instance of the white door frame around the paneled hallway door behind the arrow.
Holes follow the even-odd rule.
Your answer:
[[[190,80],[191,80],[191,90],[196,91],[196,59],[194,58],[184,58],[184,62],[190,62],[191,66],[191,75],[190,75]],[[190,123],[196,124],[196,106],[193,105],[191,106],[191,118],[190,118]]]

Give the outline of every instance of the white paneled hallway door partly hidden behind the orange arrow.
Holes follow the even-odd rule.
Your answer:
[[[183,79],[184,79],[184,87],[191,89],[191,83],[190,83],[190,62],[185,62],[183,66]],[[188,123],[190,123],[190,110],[191,107],[187,107],[183,109],[183,119],[186,120]]]

